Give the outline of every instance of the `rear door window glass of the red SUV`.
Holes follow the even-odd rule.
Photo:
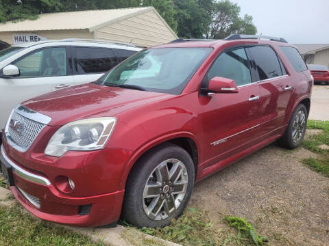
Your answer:
[[[259,45],[249,46],[248,49],[256,63],[256,70],[259,74],[260,81],[282,76],[278,56],[271,47]]]

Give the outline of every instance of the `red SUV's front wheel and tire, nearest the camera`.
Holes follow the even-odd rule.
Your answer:
[[[125,186],[123,217],[134,226],[164,227],[179,217],[193,190],[195,169],[186,150],[164,143],[132,168]]]

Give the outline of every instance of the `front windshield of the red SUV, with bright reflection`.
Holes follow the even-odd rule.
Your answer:
[[[97,83],[180,94],[211,51],[211,48],[146,49],[110,70]]]

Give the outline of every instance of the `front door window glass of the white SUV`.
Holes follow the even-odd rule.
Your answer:
[[[48,77],[66,75],[66,49],[49,48],[30,53],[13,63],[19,77]]]

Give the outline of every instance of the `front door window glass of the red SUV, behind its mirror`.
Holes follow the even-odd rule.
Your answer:
[[[208,79],[213,77],[233,79],[237,86],[252,83],[245,49],[239,48],[221,53],[208,72]]]

